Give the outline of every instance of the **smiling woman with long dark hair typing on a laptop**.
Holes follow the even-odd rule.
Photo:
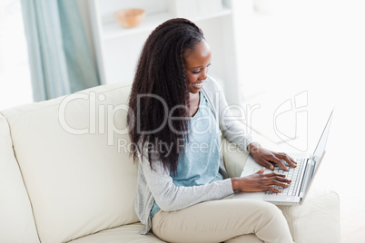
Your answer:
[[[139,158],[135,210],[145,225],[169,242],[227,242],[256,234],[265,242],[292,242],[281,210],[267,202],[223,199],[233,191],[279,190],[290,180],[264,168],[245,178],[226,178],[221,135],[267,168],[286,160],[244,133],[230,116],[222,89],[209,76],[212,52],[201,29],[186,19],[159,25],[143,46],[128,115],[133,156]]]

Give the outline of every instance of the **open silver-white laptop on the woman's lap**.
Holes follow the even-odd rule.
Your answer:
[[[325,154],[325,147],[327,138],[330,132],[330,122],[332,120],[332,112],[330,112],[330,118],[328,119],[324,130],[322,131],[320,141],[318,142],[316,149],[312,154],[308,153],[293,153],[289,154],[297,162],[297,167],[289,166],[286,161],[282,160],[284,165],[289,169],[285,171],[281,167],[275,164],[273,172],[286,175],[286,179],[291,180],[288,188],[281,188],[272,186],[281,190],[281,193],[275,193],[272,191],[260,191],[260,192],[235,192],[233,199],[260,199],[271,202],[277,205],[296,205],[302,204],[306,198],[308,191],[311,188],[311,183],[316,176],[321,161]],[[262,165],[253,160],[252,156],[246,160],[243,167],[241,177],[246,177],[256,173],[262,169]],[[266,169],[264,173],[271,173],[272,170]]]

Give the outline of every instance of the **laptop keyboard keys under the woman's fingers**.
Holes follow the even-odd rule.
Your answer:
[[[275,164],[273,172],[277,173],[277,174],[286,175],[286,179],[291,180],[291,183],[289,184],[288,188],[272,186],[275,189],[281,190],[280,193],[275,193],[271,190],[266,190],[265,194],[266,195],[272,195],[272,194],[288,195],[288,196],[297,195],[297,191],[299,190],[299,188],[301,186],[301,185],[299,185],[299,181],[300,181],[300,176],[301,176],[301,170],[304,166],[305,160],[306,159],[296,159],[295,161],[297,162],[297,167],[291,167],[288,163],[286,163],[286,161],[283,161],[283,164],[286,166],[286,168],[289,169],[289,171],[285,171],[278,164]]]

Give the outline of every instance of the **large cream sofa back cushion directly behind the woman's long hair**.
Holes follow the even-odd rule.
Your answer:
[[[138,221],[126,125],[130,88],[108,84],[3,112],[41,242]]]

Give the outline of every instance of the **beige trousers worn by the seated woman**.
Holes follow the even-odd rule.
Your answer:
[[[222,199],[173,212],[160,209],[152,228],[154,235],[168,242],[233,243],[242,242],[247,234],[263,242],[293,242],[281,210],[260,200]]]

